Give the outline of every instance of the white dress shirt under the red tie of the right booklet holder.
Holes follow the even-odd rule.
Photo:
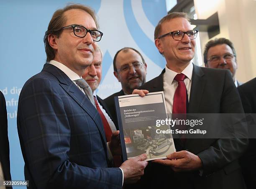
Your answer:
[[[193,64],[192,62],[187,65],[187,67],[181,72],[185,76],[184,83],[187,88],[187,97],[189,100],[190,97],[190,89],[191,89],[191,79],[192,79],[192,72],[193,72]],[[166,102],[166,109],[167,113],[172,113],[172,105],[174,99],[175,90],[178,87],[178,82],[174,80],[174,77],[180,73],[174,72],[170,70],[167,65],[165,66],[165,73],[163,74],[163,82],[164,82],[164,98]]]

